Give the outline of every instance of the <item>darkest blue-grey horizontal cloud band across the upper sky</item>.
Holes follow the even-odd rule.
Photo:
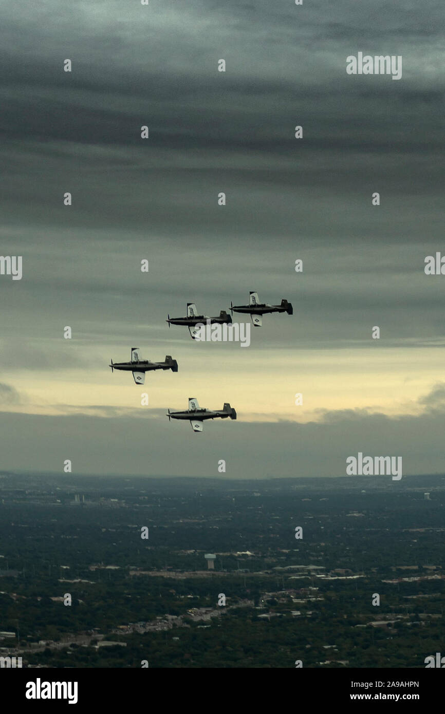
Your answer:
[[[7,60],[4,64],[14,74]],[[434,146],[441,144],[435,120],[443,110],[443,93],[437,84],[387,84],[389,78],[374,76],[366,77],[364,86],[345,73],[313,87],[301,86],[298,76],[252,81],[234,71],[221,79],[215,67],[209,67],[204,81],[191,76],[177,86],[177,78],[165,72],[147,74],[136,85],[119,74],[117,86],[106,86],[106,76],[97,77],[93,84],[91,79],[84,83],[82,76],[63,82],[60,75],[65,73],[60,68],[54,79],[44,68],[41,71],[48,82],[41,90],[24,78],[17,78],[14,89],[4,87],[8,101],[0,128],[10,140],[43,141],[36,151],[49,156],[58,153],[51,141],[134,147],[139,149],[139,158],[133,159],[135,168],[137,164],[149,166],[149,161],[144,164],[142,148],[155,163],[161,150],[171,157],[195,149],[228,152],[232,158],[241,151],[236,163],[248,169],[249,154],[256,151],[264,158],[274,152],[277,159],[289,154],[294,161],[300,159],[301,142],[295,141],[293,131],[297,123],[305,127],[304,159],[308,164],[306,152],[311,157],[326,149],[346,156],[357,149],[378,151],[383,156],[395,150],[433,154]],[[81,70],[76,71],[81,75]],[[149,102],[147,85],[150,96],[156,98]],[[151,132],[145,144],[140,137],[141,124],[148,124]],[[97,158],[100,161],[100,156]],[[190,162],[195,157],[188,158]],[[204,160],[201,163],[205,166]],[[128,164],[129,157],[122,157],[121,165]],[[209,156],[206,168],[212,166],[215,162]]]

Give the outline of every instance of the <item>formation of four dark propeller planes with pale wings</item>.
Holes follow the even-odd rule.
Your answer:
[[[251,321],[254,327],[261,327],[262,316],[266,313],[283,313],[286,312],[288,315],[294,313],[291,303],[287,300],[281,300],[280,305],[269,305],[269,303],[260,303],[258,298],[258,293],[251,292],[249,295],[249,305],[233,305],[230,303],[231,314],[234,312],[245,313],[251,316]],[[189,328],[189,333],[192,339],[196,336],[196,325],[205,323],[207,320],[210,324],[222,324],[231,323],[231,316],[226,313],[225,310],[221,310],[218,317],[208,317],[206,315],[198,315],[196,310],[196,305],[194,303],[187,303],[187,315],[186,317],[171,318],[168,316],[166,322],[170,325],[185,325]],[[113,362],[111,360],[111,371],[122,370],[131,372],[136,384],[144,384],[145,373],[151,372],[156,369],[171,369],[172,372],[178,371],[178,363],[176,359],[171,358],[170,355],[166,355],[164,362],[150,362],[149,360],[141,360],[139,358],[139,348],[131,348],[131,361],[130,362]],[[170,419],[186,419],[191,423],[191,428],[193,431],[203,431],[203,421],[206,419],[226,419],[230,417],[231,419],[236,419],[236,411],[230,406],[229,403],[225,403],[222,409],[204,409],[199,406],[198,400],[189,398],[189,408],[186,411],[167,411],[166,416]]]

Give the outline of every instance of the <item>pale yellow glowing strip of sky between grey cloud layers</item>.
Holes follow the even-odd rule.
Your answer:
[[[241,353],[244,355],[241,358]],[[104,368],[60,373],[40,371],[11,373],[9,386],[21,395],[21,403],[6,404],[2,411],[42,415],[91,413],[91,407],[124,409],[182,409],[190,396],[201,406],[222,408],[225,401],[244,421],[300,422],[320,417],[319,410],[369,409],[385,413],[415,414],[417,400],[444,378],[443,354],[437,348],[353,348],[345,350],[263,350],[240,358],[231,353],[183,359],[175,354],[179,372],[146,373],[144,386],[136,385],[131,372]],[[187,368],[192,364],[192,370]],[[97,364],[95,362],[95,364]],[[149,394],[149,406],[141,406],[141,394]],[[302,393],[303,405],[295,405]],[[106,411],[104,411],[106,416]]]

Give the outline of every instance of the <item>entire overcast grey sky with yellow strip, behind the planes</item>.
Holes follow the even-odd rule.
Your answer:
[[[443,472],[443,38],[434,0],[4,0],[0,469]],[[346,74],[359,51],[402,78]],[[249,348],[166,325],[250,290],[294,315]],[[179,373],[111,374],[136,345]],[[238,420],[169,423],[189,396]]]

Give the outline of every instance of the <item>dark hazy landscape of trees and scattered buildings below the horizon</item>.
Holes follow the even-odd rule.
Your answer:
[[[28,667],[423,668],[445,635],[444,504],[445,476],[3,472],[0,655]]]

